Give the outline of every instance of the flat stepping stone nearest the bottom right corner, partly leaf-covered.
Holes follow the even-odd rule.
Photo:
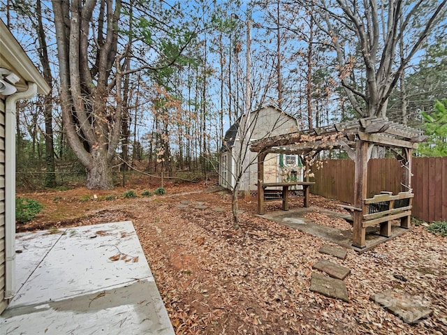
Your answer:
[[[420,319],[427,318],[432,313],[431,309],[393,290],[376,293],[369,297],[369,299],[383,306],[390,313],[393,313],[398,318],[401,318],[402,321],[409,324],[417,323]]]

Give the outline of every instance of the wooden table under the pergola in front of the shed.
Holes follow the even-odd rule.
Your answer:
[[[258,214],[264,214],[264,202],[272,200],[282,200],[283,211],[288,211],[288,195],[291,191],[291,186],[302,186],[298,196],[304,198],[304,207],[309,207],[309,186],[314,185],[312,181],[291,181],[281,183],[263,183],[258,181]]]

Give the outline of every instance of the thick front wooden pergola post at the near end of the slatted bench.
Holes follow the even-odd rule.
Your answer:
[[[367,196],[368,177],[368,142],[356,142],[356,167],[354,172],[354,206],[362,211],[354,211],[353,246],[365,248],[366,228],[363,228],[363,215],[365,214],[363,201]]]

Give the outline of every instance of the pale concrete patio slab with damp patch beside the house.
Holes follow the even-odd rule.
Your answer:
[[[131,221],[17,234],[0,334],[174,334]]]

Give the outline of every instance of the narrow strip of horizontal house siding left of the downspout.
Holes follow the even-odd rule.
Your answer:
[[[5,101],[0,98],[0,313],[5,297]]]

